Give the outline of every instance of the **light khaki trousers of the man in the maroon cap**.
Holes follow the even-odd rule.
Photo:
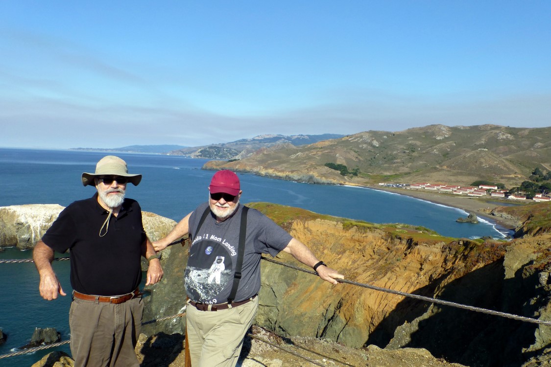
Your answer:
[[[199,311],[188,304],[186,328],[192,367],[234,367],[257,309],[258,296],[219,311]]]

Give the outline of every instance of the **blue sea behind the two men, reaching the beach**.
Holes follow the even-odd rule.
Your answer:
[[[0,206],[67,206],[74,200],[88,198],[94,194],[94,188],[83,187],[80,176],[83,172],[94,172],[96,162],[109,154],[0,149]],[[207,200],[207,187],[213,172],[201,169],[206,162],[204,160],[152,154],[116,155],[126,160],[130,173],[143,175],[137,187],[128,186],[127,196],[138,200],[144,211],[179,221]],[[500,238],[511,234],[490,221],[457,223],[455,220],[458,217],[466,217],[468,213],[386,191],[296,183],[245,173],[239,173],[239,177],[243,190],[241,202],[244,204],[267,201],[367,222],[408,223],[458,238],[487,235]],[[31,256],[30,251],[16,249],[0,252],[0,259]],[[68,261],[55,261],[53,266],[64,291],[70,294]],[[0,264],[0,284],[3,288],[0,295],[0,328],[8,335],[7,342],[0,345],[0,355],[28,343],[35,327],[56,327],[62,333],[62,340],[69,338],[70,296],[50,302],[42,300],[38,282],[39,276],[33,263]],[[69,353],[68,346],[59,349]],[[30,366],[52,350],[0,359],[0,366]]]

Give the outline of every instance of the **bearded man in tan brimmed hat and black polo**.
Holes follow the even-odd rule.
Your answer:
[[[139,366],[134,347],[143,314],[141,256],[149,261],[146,286],[163,277],[143,229],[142,209],[125,198],[127,183],[138,185],[141,179],[128,173],[121,158],[102,158],[95,173],[82,174],[84,186],[94,185],[97,192],[67,206],[34,249],[40,295],[47,300],[66,295],[51,266],[54,251],[71,251],[75,366]]]

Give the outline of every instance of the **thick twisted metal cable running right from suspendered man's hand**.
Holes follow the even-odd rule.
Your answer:
[[[317,275],[317,273],[315,271],[307,270],[307,269],[304,269],[304,268],[299,267],[299,266],[285,264],[285,262],[280,262],[280,261],[277,261],[277,260],[268,259],[268,258],[264,258],[264,257],[262,257],[261,259],[269,261],[269,262],[273,262],[274,264],[277,264],[277,265],[283,265],[283,266],[290,267],[291,269],[299,270],[299,271],[309,273],[309,274],[312,274],[312,275]],[[411,293],[405,293],[405,292],[400,292],[400,291],[394,291],[393,289],[371,286],[371,284],[358,283],[358,282],[353,282],[353,281],[349,281],[349,280],[345,280],[345,279],[336,279],[336,281],[339,282],[339,283],[348,283],[348,284],[353,284],[354,286],[358,286],[358,287],[374,289],[375,291],[392,293],[392,294],[397,294],[397,295],[403,295],[404,297],[420,299],[420,300],[423,300],[423,301],[426,301],[426,302],[443,304],[443,305],[447,305],[447,306],[452,306],[452,307],[461,308],[461,309],[464,309],[464,310],[470,310],[470,311],[480,312],[480,313],[489,314],[489,315],[507,317],[507,319],[513,319],[513,320],[518,320],[518,321],[526,321],[526,322],[532,322],[533,324],[551,326],[551,321],[537,320],[537,319],[532,319],[531,317],[517,316],[517,315],[513,315],[513,314],[507,314],[507,313],[504,313],[504,312],[488,310],[488,309],[484,309],[484,308],[480,308],[480,307],[462,305],[462,304],[459,304],[459,303],[450,302],[450,301],[446,301],[446,300],[442,300],[442,299],[425,297],[424,295],[419,295],[419,294],[411,294]]]

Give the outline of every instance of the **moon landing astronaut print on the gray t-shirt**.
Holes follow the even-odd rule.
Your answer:
[[[188,297],[201,303],[227,302],[229,291],[223,291],[230,282],[233,284],[232,255],[235,258],[233,248],[230,250],[213,240],[193,244],[185,273]],[[225,299],[220,299],[221,292]]]

